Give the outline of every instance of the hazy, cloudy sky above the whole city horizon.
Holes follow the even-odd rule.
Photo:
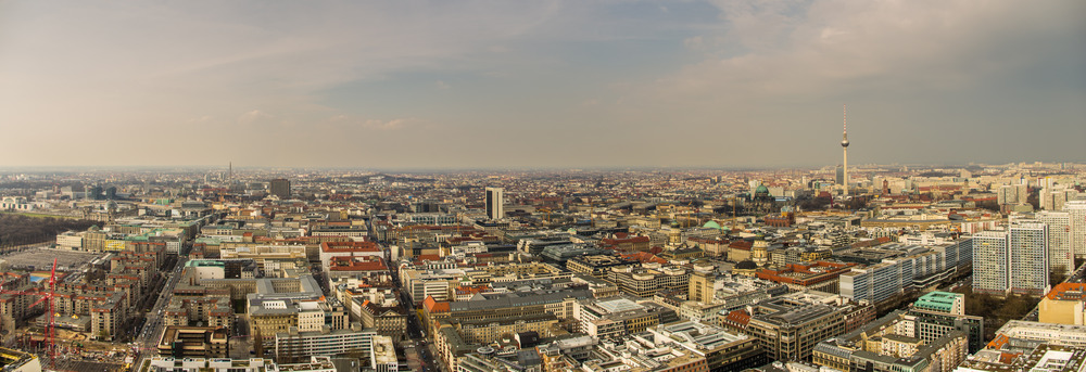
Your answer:
[[[0,0],[0,166],[1086,161],[1086,1]]]

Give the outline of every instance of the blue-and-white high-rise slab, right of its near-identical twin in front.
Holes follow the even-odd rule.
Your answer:
[[[1007,232],[1010,249],[1010,290],[1043,295],[1048,291],[1048,227],[1037,221],[1011,223]]]

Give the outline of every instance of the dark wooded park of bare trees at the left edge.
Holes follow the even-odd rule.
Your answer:
[[[97,223],[90,220],[0,214],[0,248],[49,242],[61,232],[83,231]]]

